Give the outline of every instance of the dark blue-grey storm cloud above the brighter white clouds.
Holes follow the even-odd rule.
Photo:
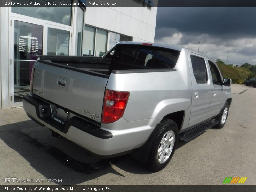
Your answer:
[[[169,32],[168,28],[171,29]],[[191,36],[208,34],[227,39],[238,36],[255,37],[256,8],[159,7],[155,38],[171,36],[170,33],[176,31]]]

